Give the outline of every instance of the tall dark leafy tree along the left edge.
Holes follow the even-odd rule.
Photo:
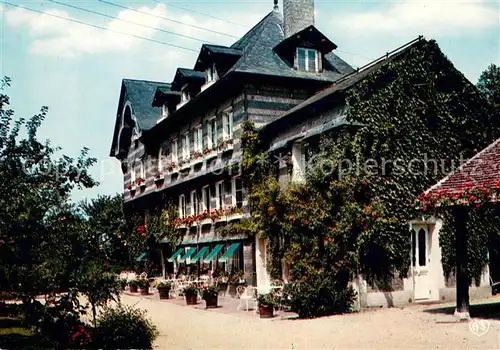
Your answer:
[[[74,189],[97,185],[88,173],[96,162],[83,148],[78,158],[63,155],[37,131],[48,108],[29,119],[14,119],[0,87],[0,288],[19,294],[29,305],[38,294],[71,284],[67,269],[84,254],[82,218],[69,203]],[[21,137],[21,130],[26,136]],[[80,250],[80,254],[78,251]],[[66,270],[65,270],[66,269]],[[27,308],[28,309],[28,308]]]

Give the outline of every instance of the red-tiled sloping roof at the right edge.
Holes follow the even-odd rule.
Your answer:
[[[459,193],[468,186],[494,185],[500,187],[500,139],[425,191],[425,194],[433,195],[439,191]]]

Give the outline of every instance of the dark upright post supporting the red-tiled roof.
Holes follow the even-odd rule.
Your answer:
[[[455,316],[469,319],[469,276],[467,273],[467,218],[469,210],[465,206],[453,207],[455,225],[456,291],[457,306]]]

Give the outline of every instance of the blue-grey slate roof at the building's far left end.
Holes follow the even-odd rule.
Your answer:
[[[153,107],[156,88],[170,89],[170,84],[156,81],[123,79],[127,99],[132,104],[134,116],[141,130],[149,130],[156,125],[160,109]]]

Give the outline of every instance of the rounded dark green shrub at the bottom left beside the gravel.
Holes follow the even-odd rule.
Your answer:
[[[158,329],[146,311],[119,305],[106,308],[97,321],[94,347],[102,349],[152,349]]]

